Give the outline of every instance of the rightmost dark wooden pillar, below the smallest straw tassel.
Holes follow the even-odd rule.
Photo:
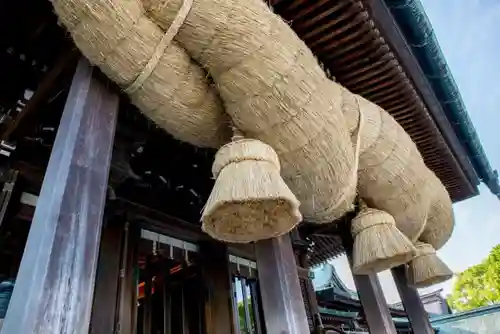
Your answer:
[[[424,309],[418,291],[408,286],[405,266],[393,268],[391,271],[413,332],[419,334],[434,334],[434,330],[429,321],[429,314]]]

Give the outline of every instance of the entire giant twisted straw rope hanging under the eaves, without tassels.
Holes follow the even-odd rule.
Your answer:
[[[449,238],[449,195],[437,181],[440,196],[429,195],[433,174],[411,138],[384,110],[328,80],[263,1],[52,3],[83,54],[176,138],[220,147],[230,138],[227,113],[245,137],[270,145],[308,221],[343,215],[357,187],[412,241],[422,234],[437,249]]]

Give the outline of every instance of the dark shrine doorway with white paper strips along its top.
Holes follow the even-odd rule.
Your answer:
[[[137,334],[205,333],[203,281],[196,260],[187,251],[175,256],[170,247],[158,245],[142,239],[139,246]]]

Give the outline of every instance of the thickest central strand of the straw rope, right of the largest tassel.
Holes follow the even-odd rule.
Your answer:
[[[143,0],[165,31],[182,0]],[[176,40],[213,77],[246,137],[271,145],[311,222],[352,208],[356,175],[341,87],[262,0],[196,0]]]

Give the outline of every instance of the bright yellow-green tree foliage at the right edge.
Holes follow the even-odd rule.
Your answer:
[[[456,311],[500,303],[500,244],[483,262],[458,275],[449,302]]]

